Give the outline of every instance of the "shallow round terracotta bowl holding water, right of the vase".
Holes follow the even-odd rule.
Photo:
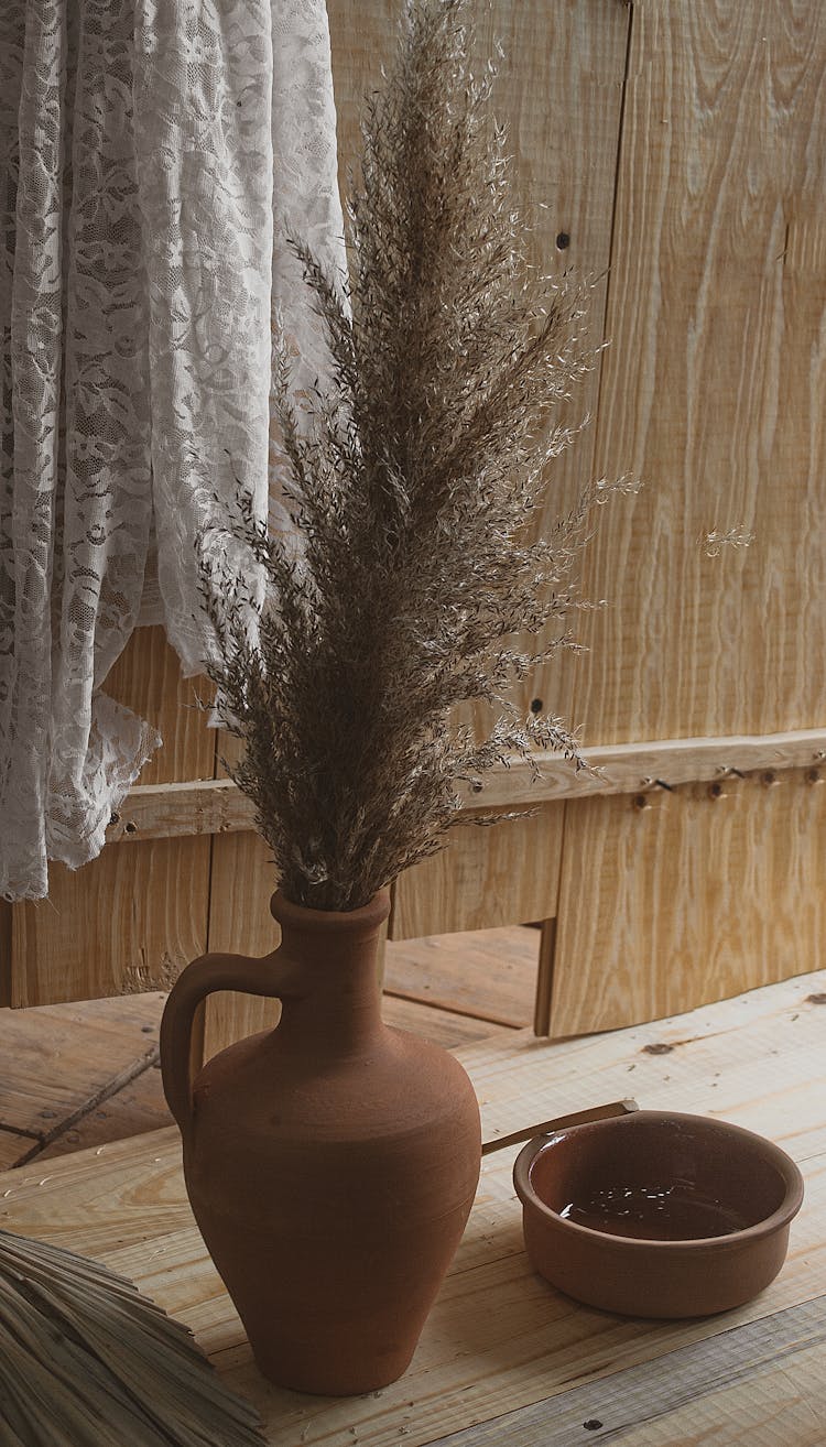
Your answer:
[[[534,1270],[634,1317],[751,1301],[783,1266],[803,1201],[800,1171],[770,1140],[660,1110],[535,1137],[514,1184]]]

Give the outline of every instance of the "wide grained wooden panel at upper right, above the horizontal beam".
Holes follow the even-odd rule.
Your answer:
[[[636,0],[597,472],[645,486],[589,556],[590,744],[826,719],[825,218],[823,6]]]

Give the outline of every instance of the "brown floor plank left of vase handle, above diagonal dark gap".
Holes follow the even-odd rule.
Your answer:
[[[43,1145],[140,1074],[158,1053],[163,996],[6,1010],[0,1129]]]

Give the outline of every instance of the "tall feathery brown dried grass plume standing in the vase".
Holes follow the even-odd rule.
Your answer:
[[[457,780],[476,787],[537,745],[579,758],[563,719],[521,716],[506,690],[574,645],[571,570],[612,491],[595,485],[551,538],[525,540],[571,441],[554,417],[593,365],[586,288],[528,262],[490,75],[470,71],[472,9],[406,6],[363,119],[349,281],[295,242],[331,382],[297,404],[281,359],[299,550],[256,524],[242,489],[227,528],[266,577],[259,628],[234,567],[204,564],[208,671],[246,745],[230,773],[282,890],[317,909],[354,909],[441,848]],[[456,722],[469,700],[498,710],[487,737]]]

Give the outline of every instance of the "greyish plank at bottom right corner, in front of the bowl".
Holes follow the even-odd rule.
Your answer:
[[[738,1443],[777,1447],[781,1441],[820,1447],[823,1415],[814,1383],[825,1362],[826,1297],[816,1297],[667,1351],[655,1362],[560,1392],[495,1422],[440,1437],[431,1447],[499,1447],[502,1441],[519,1447],[570,1447],[583,1427],[593,1434],[589,1441],[641,1447],[654,1441],[690,1447],[707,1441],[709,1428],[715,1435],[725,1430],[728,1447]],[[800,1375],[803,1399],[788,1373]]]

